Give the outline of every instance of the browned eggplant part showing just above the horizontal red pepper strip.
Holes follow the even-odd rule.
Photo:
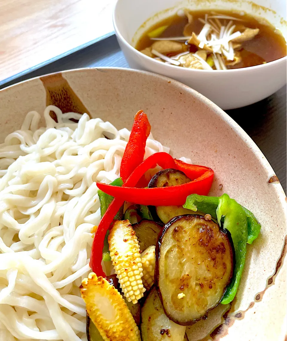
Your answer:
[[[173,168],[162,169],[149,181],[148,187],[168,187],[190,182],[190,179],[181,171]]]

